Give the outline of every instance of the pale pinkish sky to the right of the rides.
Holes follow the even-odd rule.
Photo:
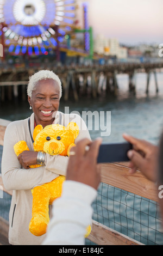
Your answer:
[[[87,0],[94,34],[120,42],[163,43],[163,0]]]

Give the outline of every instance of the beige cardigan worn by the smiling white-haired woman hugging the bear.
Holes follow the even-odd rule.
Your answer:
[[[54,123],[67,126],[70,121],[75,121],[80,128],[79,135],[75,141],[89,138],[89,131],[79,115],[71,116],[57,112]],[[30,130],[33,135],[34,113],[30,117]],[[40,245],[45,235],[36,237],[30,233],[28,226],[32,218],[32,192],[31,189],[37,185],[50,182],[58,175],[66,175],[68,157],[50,156],[46,154],[45,166],[35,169],[22,169],[14,153],[14,145],[18,141],[26,141],[30,150],[33,150],[30,138],[28,119],[10,123],[5,131],[4,147],[2,155],[2,179],[7,190],[13,190],[11,207],[9,213],[9,243],[11,245]],[[51,209],[49,206],[49,216]]]

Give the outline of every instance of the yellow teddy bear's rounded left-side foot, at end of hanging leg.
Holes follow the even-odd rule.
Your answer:
[[[35,236],[42,236],[46,233],[49,218],[44,217],[41,213],[35,214],[30,223],[29,231]]]

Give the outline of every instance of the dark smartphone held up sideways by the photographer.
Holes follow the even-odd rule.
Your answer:
[[[133,148],[130,143],[103,143],[99,148],[97,163],[126,162],[129,161],[127,152]]]

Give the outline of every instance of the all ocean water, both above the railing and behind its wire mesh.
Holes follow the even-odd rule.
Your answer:
[[[157,77],[158,94],[155,92],[154,76],[151,77],[149,93],[146,95],[147,76],[137,74],[136,95],[133,95],[128,91],[128,76],[118,75],[117,97],[103,94],[97,99],[80,97],[79,102],[74,102],[72,96],[68,102],[61,100],[60,111],[65,112],[65,107],[68,107],[70,113],[78,111],[84,118],[84,111],[105,114],[111,112],[111,123],[107,124],[105,120],[105,125],[110,127],[109,136],[102,136],[103,131],[95,129],[98,125],[99,128],[101,127],[101,119],[95,118],[92,120],[92,129],[90,129],[92,139],[102,136],[103,142],[123,142],[122,134],[126,132],[158,144],[163,129],[163,72],[158,72]],[[0,118],[13,121],[27,118],[30,114],[28,102],[1,103]],[[0,199],[0,214],[3,209],[3,215],[8,215],[9,203],[10,198],[7,196]],[[108,227],[145,244],[163,244],[159,209],[155,202],[101,184],[93,209],[93,218]]]

